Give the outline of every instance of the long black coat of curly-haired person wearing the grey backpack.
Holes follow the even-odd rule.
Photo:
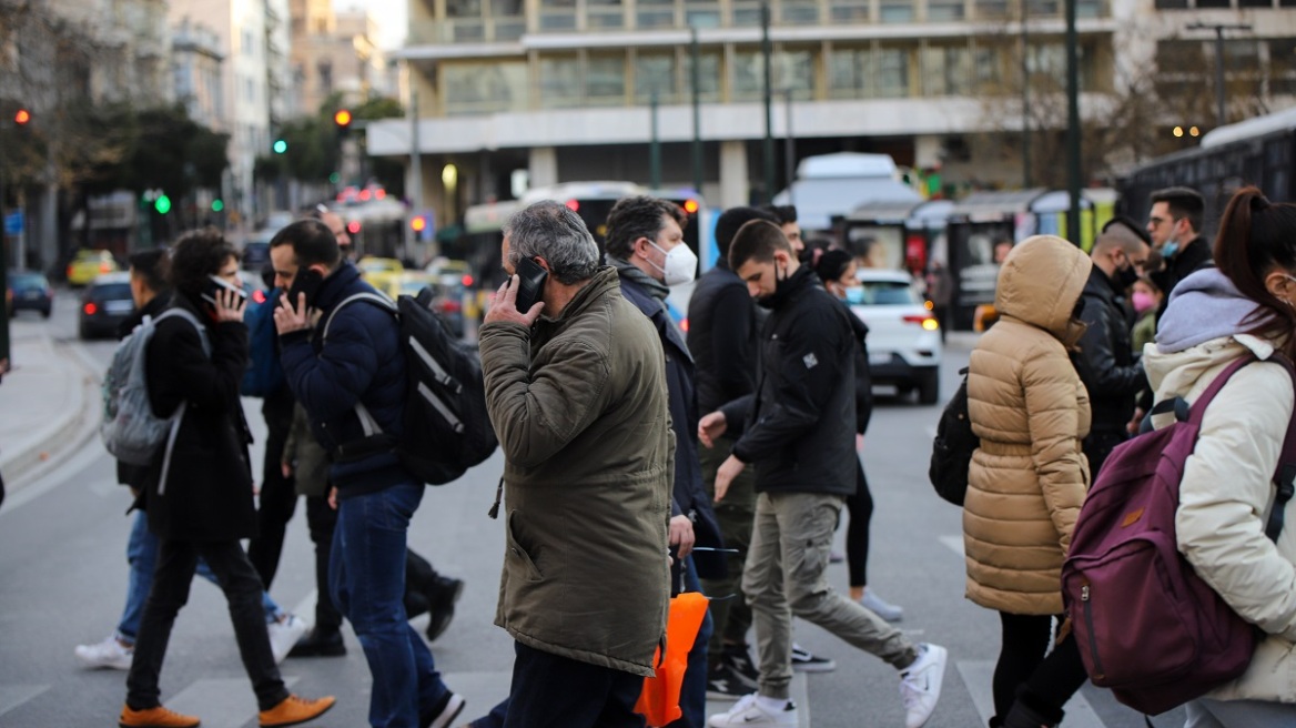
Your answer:
[[[149,466],[143,497],[149,530],[162,539],[226,541],[257,535],[251,468],[251,434],[244,420],[238,385],[248,367],[248,326],[215,324],[187,297],[172,307],[188,308],[206,323],[211,358],[193,324],[171,316],[158,321],[145,367],[153,413],[167,417],[187,403],[171,451],[166,481],[159,479],[166,448]]]

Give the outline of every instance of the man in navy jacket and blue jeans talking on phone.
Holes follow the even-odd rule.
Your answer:
[[[373,675],[369,724],[446,728],[464,698],[441,680],[403,604],[406,532],[425,488],[394,449],[406,399],[399,326],[384,307],[347,303],[376,291],[319,220],[281,229],[270,258],[275,285],[288,291],[275,311],[284,374],[332,456],[337,532],[329,587]],[[327,336],[324,326],[312,328],[316,316],[329,321]],[[367,437],[375,424],[380,434]]]

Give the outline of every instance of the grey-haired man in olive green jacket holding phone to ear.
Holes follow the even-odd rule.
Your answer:
[[[638,728],[669,598],[665,355],[566,206],[509,218],[502,259],[511,277],[480,341],[504,451],[495,623],[516,640],[504,727]],[[548,275],[520,312],[524,259]]]

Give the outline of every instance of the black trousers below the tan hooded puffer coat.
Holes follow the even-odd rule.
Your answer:
[[[1045,657],[1052,641],[1052,617],[999,613],[1003,644],[994,667],[994,712],[1003,718],[1021,697],[1036,710],[1060,714],[1061,706],[1089,680],[1074,632]]]

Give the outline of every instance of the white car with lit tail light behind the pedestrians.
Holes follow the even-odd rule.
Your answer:
[[[918,402],[941,395],[941,326],[905,271],[859,268],[864,301],[850,310],[868,325],[868,365],[875,385],[901,394],[918,390]]]

